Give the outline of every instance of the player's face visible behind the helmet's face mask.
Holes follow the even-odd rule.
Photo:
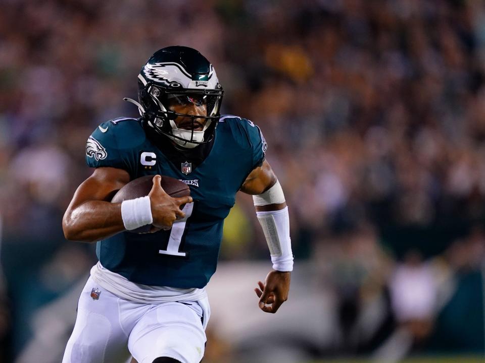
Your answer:
[[[168,107],[176,113],[207,116],[206,97],[203,95],[174,95],[169,99]],[[192,130],[192,119],[190,117],[178,116],[174,122],[179,129]],[[206,118],[195,118],[193,121],[193,130],[202,131],[206,122]]]

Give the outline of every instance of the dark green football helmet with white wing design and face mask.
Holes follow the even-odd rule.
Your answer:
[[[141,68],[139,102],[125,100],[138,106],[144,122],[158,134],[184,148],[194,148],[214,138],[223,93],[214,67],[201,53],[170,46],[156,51]],[[205,114],[178,113],[174,104],[181,108],[193,104],[201,110],[205,106]],[[183,117],[183,128],[175,124],[177,117]]]

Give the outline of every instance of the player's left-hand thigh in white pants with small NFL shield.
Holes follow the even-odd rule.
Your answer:
[[[97,288],[97,299],[91,290]],[[94,291],[94,297],[96,292]],[[128,335],[120,323],[119,298],[89,278],[79,297],[76,324],[63,363],[129,362]]]

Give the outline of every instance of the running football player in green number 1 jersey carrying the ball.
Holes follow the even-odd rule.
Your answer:
[[[99,262],[79,298],[64,363],[198,363],[224,218],[238,191],[253,195],[273,269],[255,288],[259,308],[287,299],[293,255],[288,209],[250,120],[220,115],[223,89],[197,50],[158,50],[138,75],[140,118],[120,117],[87,140],[94,172],[63,218],[67,239],[97,241]],[[110,203],[130,180],[154,175],[143,198]],[[172,198],[160,175],[182,180],[190,197]],[[180,210],[180,206],[184,205]],[[129,232],[153,225],[151,233]]]

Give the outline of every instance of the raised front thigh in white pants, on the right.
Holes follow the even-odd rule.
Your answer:
[[[201,361],[206,344],[203,309],[195,301],[190,304],[166,302],[143,315],[128,340],[138,363],[152,363],[157,357],[182,363]]]

